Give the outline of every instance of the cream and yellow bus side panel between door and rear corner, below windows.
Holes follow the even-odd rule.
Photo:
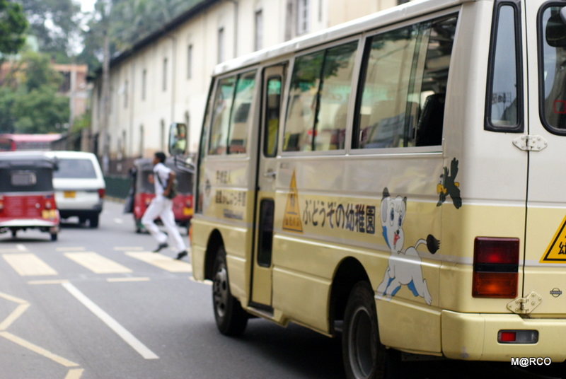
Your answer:
[[[437,184],[442,162],[440,153],[318,157],[301,163],[282,159],[274,308],[291,320],[328,331],[333,274],[342,260],[353,257],[380,299],[382,338],[391,346],[439,352],[438,270],[445,252],[430,252],[427,239],[429,245],[441,240]],[[393,243],[393,236],[385,235],[395,233],[399,222],[404,240]],[[396,278],[390,276],[393,272]],[[381,295],[379,288],[385,291]],[[301,296],[292,296],[294,291]],[[415,333],[420,336],[417,344]]]

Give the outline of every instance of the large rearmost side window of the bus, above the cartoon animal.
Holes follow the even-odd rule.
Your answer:
[[[370,37],[354,148],[441,144],[456,17]]]

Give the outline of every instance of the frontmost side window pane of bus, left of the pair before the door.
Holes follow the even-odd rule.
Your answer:
[[[230,110],[236,77],[231,76],[219,81],[212,109],[212,131],[210,136],[209,154],[225,154],[226,142],[230,127]]]

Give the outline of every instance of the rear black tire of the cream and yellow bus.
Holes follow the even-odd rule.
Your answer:
[[[342,359],[349,379],[386,378],[386,348],[379,341],[374,291],[357,283],[348,297],[342,331]]]

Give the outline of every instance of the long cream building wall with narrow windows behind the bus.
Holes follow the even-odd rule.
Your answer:
[[[396,0],[309,0],[309,30],[322,30],[396,4]],[[112,64],[110,160],[147,157],[155,151],[166,151],[171,122],[188,121],[189,151],[196,153],[210,75],[219,58],[219,30],[224,29],[224,59],[232,59],[254,51],[255,12],[258,10],[263,17],[263,47],[296,37],[296,6],[297,0],[238,0],[237,5],[233,0],[219,1],[168,35],[156,38],[143,49],[131,52],[127,59]],[[190,45],[192,75],[189,77],[187,51]],[[164,59],[167,59],[165,89]],[[145,98],[142,98],[144,70]],[[98,78],[92,92],[92,132],[100,133],[97,153],[102,156],[100,84]]]

